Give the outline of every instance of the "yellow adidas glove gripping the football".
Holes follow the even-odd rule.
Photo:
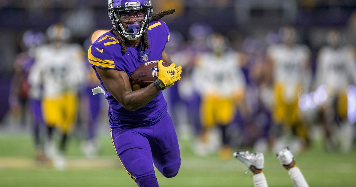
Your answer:
[[[163,61],[160,60],[158,62],[158,77],[157,79],[161,80],[164,85],[159,85],[159,87],[163,90],[167,87],[170,87],[176,82],[180,80],[180,74],[182,73],[182,66],[176,67],[176,64],[172,63],[170,66],[163,66]]]

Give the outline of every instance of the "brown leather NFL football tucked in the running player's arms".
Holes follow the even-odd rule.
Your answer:
[[[150,61],[138,66],[135,71],[131,74],[132,84],[136,83],[144,88],[151,83],[153,83],[158,76],[157,63],[159,61]],[[163,66],[169,66],[171,64],[163,62]]]

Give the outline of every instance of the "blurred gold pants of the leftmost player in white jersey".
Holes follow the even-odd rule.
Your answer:
[[[73,130],[77,120],[77,94],[67,92],[58,97],[43,98],[43,119],[48,126],[56,126],[62,133]]]

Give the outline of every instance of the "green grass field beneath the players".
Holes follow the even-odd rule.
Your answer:
[[[33,143],[28,133],[0,133],[0,186],[120,186],[135,187],[136,183],[121,166],[112,147],[110,133],[100,136],[101,154],[97,159],[86,159],[80,153],[80,141],[71,139],[68,168],[56,171],[49,166],[36,165]],[[321,144],[296,157],[311,187],[355,186],[356,152],[349,154],[325,153]],[[216,155],[195,156],[189,141],[180,142],[182,166],[174,178],[164,178],[157,170],[162,187],[253,186],[251,173],[231,157],[222,161]],[[271,187],[293,186],[288,173],[272,153],[265,154],[263,170]]]

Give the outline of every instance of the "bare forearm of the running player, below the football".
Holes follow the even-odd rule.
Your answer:
[[[124,95],[124,97],[122,97],[122,102],[120,103],[126,110],[135,111],[148,104],[153,98],[156,97],[159,91],[160,90],[158,90],[157,87],[152,83],[145,88],[127,93]],[[115,97],[114,94],[112,95]],[[117,97],[115,98],[118,100]]]

